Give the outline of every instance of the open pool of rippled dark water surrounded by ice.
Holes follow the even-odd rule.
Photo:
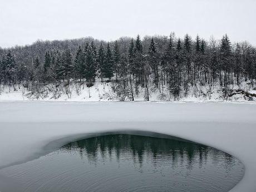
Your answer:
[[[175,139],[105,135],[0,170],[17,191],[229,191],[242,179],[238,159]],[[4,192],[4,191],[2,191]]]

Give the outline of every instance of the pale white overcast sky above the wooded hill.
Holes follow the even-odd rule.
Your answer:
[[[256,45],[255,19],[255,0],[0,0],[0,47],[170,32]]]

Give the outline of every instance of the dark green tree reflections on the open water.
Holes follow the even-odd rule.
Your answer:
[[[97,164],[99,158],[102,160],[120,160],[120,156],[132,155],[134,164],[143,164],[144,158],[152,157],[154,164],[157,160],[171,160],[172,166],[186,163],[187,169],[193,169],[193,165],[199,168],[208,161],[210,157],[214,164],[224,160],[225,166],[235,166],[235,157],[205,145],[193,142],[184,142],[173,139],[159,139],[156,137],[137,135],[105,135],[92,137],[85,140],[71,142],[62,147],[62,151],[79,151],[81,159],[88,158],[92,164]]]

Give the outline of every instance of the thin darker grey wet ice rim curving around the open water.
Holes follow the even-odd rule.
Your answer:
[[[91,132],[91,133],[86,133],[86,134],[72,134],[72,135],[66,135],[64,137],[62,136],[58,139],[50,140],[45,146],[43,146],[41,148],[41,152],[38,151],[36,154],[33,154],[33,155],[27,157],[27,159],[17,161],[16,163],[12,163],[12,164],[5,165],[5,166],[2,166],[2,167],[0,166],[0,170],[3,169],[3,168],[7,168],[9,166],[20,165],[20,164],[23,164],[23,163],[27,163],[28,161],[33,161],[33,160],[39,159],[40,157],[45,156],[47,154],[50,154],[51,152],[59,149],[60,147],[66,145],[70,142],[75,142],[75,141],[78,141],[78,140],[88,139],[88,138],[96,137],[96,136],[113,135],[113,134],[127,134],[127,135],[157,137],[157,138],[162,138],[162,139],[175,139],[175,140],[178,140],[178,141],[191,142],[191,143],[194,143],[194,144],[205,145],[205,144],[195,142],[195,141],[192,141],[192,140],[183,139],[183,138],[178,137],[178,136],[162,134],[160,132],[140,131],[140,130],[134,130],[134,129],[97,131],[97,132]],[[205,146],[209,146],[209,145],[205,145]],[[213,149],[216,149],[216,147],[212,147],[212,146],[209,146],[209,147],[211,147]],[[218,150],[220,150],[220,149],[218,149]],[[220,151],[223,151],[223,150],[220,150]],[[229,154],[226,151],[223,151],[223,152]],[[229,154],[229,155],[232,155],[232,154]],[[243,164],[243,162],[238,157],[236,157],[234,155],[232,155],[232,156],[235,157],[236,159],[238,159]],[[243,166],[244,166],[243,177],[238,181],[238,183],[240,183],[240,181],[244,178],[244,175],[245,175],[245,165],[243,164]],[[13,185],[13,186],[18,186],[17,181],[15,181],[11,178],[7,178],[6,176],[0,175],[0,179],[4,179],[6,181],[5,185],[8,185],[11,181],[11,183],[16,184],[16,185]],[[235,184],[233,186],[233,188],[237,184]]]

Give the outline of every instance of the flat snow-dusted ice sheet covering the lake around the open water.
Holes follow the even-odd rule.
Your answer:
[[[231,191],[256,191],[254,102],[2,101],[0,127],[0,169],[88,134],[142,130],[200,142],[238,157],[245,175]]]

